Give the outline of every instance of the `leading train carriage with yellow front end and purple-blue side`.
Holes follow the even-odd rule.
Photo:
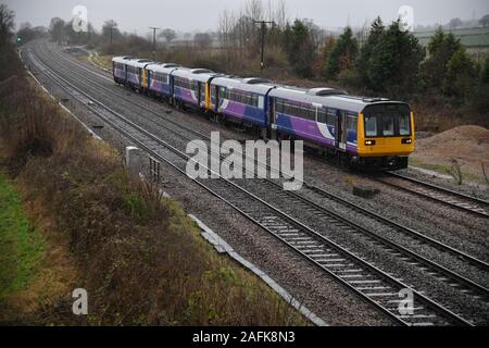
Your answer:
[[[406,103],[349,96],[333,88],[278,87],[269,92],[273,137],[302,139],[348,165],[408,166],[414,123]]]

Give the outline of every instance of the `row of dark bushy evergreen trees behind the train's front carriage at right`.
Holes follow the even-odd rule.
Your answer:
[[[409,98],[439,95],[453,104],[471,104],[487,111],[489,59],[478,64],[460,39],[439,28],[428,49],[404,30],[400,22],[385,26],[377,18],[365,44],[360,48],[350,28],[325,45],[324,78],[361,89]]]

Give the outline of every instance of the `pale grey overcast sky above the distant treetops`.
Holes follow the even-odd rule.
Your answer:
[[[263,0],[267,8],[277,0]],[[289,18],[312,18],[326,28],[362,25],[380,15],[397,18],[401,5],[414,9],[414,24],[444,24],[453,17],[480,18],[489,13],[488,0],[285,0]],[[48,25],[53,16],[71,20],[75,5],[88,9],[88,18],[100,29],[114,20],[122,30],[146,35],[148,26],[179,32],[215,29],[220,13],[240,9],[244,0],[1,0],[16,13],[16,23]],[[141,10],[142,9],[142,10]]]

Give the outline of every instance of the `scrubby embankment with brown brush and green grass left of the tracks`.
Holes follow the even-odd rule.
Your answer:
[[[306,324],[21,70],[11,74],[0,83],[0,322]],[[72,312],[76,288],[88,315]]]

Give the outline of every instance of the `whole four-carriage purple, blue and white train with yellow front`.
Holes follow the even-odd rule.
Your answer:
[[[112,73],[116,84],[140,94],[197,109],[218,122],[239,124],[258,138],[303,140],[350,167],[405,169],[414,151],[414,115],[405,102],[133,57],[114,57]]]

